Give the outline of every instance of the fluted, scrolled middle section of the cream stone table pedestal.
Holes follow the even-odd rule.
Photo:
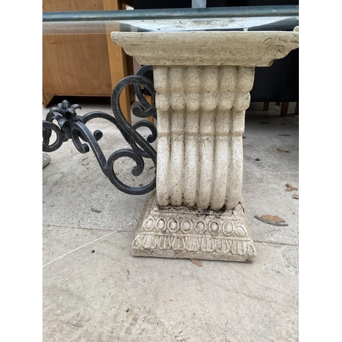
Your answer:
[[[233,209],[254,68],[155,66],[154,79],[158,205]]]

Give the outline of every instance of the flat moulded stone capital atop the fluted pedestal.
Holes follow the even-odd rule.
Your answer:
[[[147,65],[270,66],[299,43],[299,32],[111,32],[111,39]]]

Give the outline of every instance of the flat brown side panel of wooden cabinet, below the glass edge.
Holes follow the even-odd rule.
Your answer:
[[[43,93],[110,96],[105,34],[43,36]]]

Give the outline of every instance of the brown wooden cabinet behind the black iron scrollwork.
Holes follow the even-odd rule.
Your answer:
[[[43,12],[121,10],[122,6],[118,0],[42,1]],[[55,95],[110,96],[116,83],[132,74],[132,58],[112,42],[110,28],[104,29],[103,34],[42,37],[42,100],[45,107]],[[133,101],[134,94],[130,96],[126,87],[120,96],[120,105],[129,122]]]

